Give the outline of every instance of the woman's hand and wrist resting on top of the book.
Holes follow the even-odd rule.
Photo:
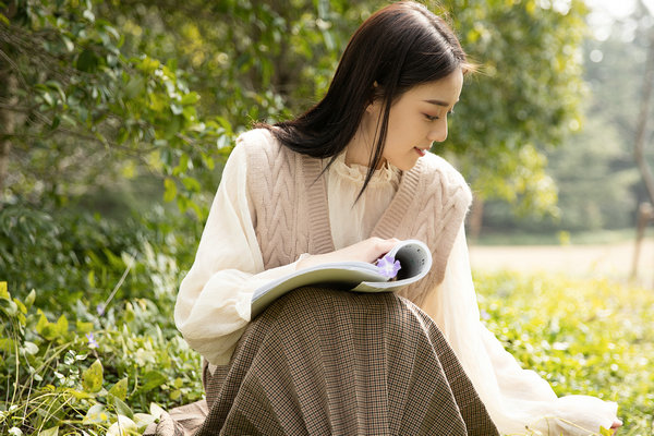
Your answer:
[[[313,254],[298,262],[295,269],[308,268],[330,262],[359,261],[372,264],[388,253],[399,239],[368,238],[353,245],[326,254]]]

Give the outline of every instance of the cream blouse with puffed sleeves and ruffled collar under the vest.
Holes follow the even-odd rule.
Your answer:
[[[244,147],[235,147],[222,172],[195,262],[183,279],[174,320],[189,344],[214,365],[229,363],[250,322],[254,290],[295,270],[299,259],[264,270],[252,225]],[[348,166],[344,154],[327,172],[329,221],[336,250],[368,238],[395,195],[401,171],[375,171],[352,206],[367,168]],[[300,256],[302,257],[302,256]],[[445,279],[423,306],[441,329],[502,434],[588,435],[617,420],[617,404],[594,397],[557,398],[547,382],[520,367],[480,322],[465,233],[461,227]],[[536,433],[537,434],[537,433]]]

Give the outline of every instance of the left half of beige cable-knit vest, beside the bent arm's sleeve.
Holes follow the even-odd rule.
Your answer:
[[[329,220],[319,207],[327,203],[320,160],[282,147],[264,129],[242,134],[237,145],[247,147],[247,189],[264,267],[334,251]]]

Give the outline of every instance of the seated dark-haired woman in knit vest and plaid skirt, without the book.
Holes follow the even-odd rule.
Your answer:
[[[175,306],[208,362],[199,434],[620,425],[615,403],[556,398],[480,323],[463,231],[472,196],[429,153],[471,69],[441,19],[395,3],[352,36],[318,105],[239,137]],[[410,238],[434,266],[399,296],[306,288],[250,319],[261,284],[325,262],[374,262]]]

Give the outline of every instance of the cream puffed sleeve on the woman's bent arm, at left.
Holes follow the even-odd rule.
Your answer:
[[[195,261],[182,280],[174,323],[209,363],[229,363],[250,322],[254,291],[295,270],[295,263],[264,270],[251,219],[247,162],[242,147],[231,153],[211,204]]]

